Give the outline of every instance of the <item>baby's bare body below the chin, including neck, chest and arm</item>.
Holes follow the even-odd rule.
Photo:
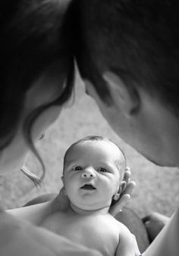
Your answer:
[[[77,208],[74,210],[69,208],[52,214],[42,222],[41,226],[63,235],[72,242],[96,249],[102,255],[118,255],[121,250],[123,255],[133,255],[133,238],[130,238],[129,230],[111,216],[106,208],[89,213]],[[118,248],[121,241],[124,247]]]

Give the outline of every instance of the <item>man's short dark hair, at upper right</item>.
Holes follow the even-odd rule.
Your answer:
[[[74,2],[78,67],[99,97],[112,104],[102,78],[111,70],[132,91],[143,88],[178,116],[178,1]]]

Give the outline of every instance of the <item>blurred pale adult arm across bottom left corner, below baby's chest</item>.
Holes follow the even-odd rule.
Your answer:
[[[99,252],[75,245],[46,229],[0,212],[1,256],[100,256]],[[101,255],[102,256],[102,255]]]

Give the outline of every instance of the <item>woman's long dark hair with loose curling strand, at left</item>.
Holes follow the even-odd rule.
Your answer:
[[[33,123],[46,108],[68,101],[74,87],[74,56],[69,35],[71,20],[68,17],[70,2],[1,1],[0,150],[8,146],[17,132],[26,93],[33,82],[49,66],[61,61],[66,74],[66,83],[59,85],[61,95],[50,104],[34,110],[24,123],[24,138],[42,163],[31,138]]]

